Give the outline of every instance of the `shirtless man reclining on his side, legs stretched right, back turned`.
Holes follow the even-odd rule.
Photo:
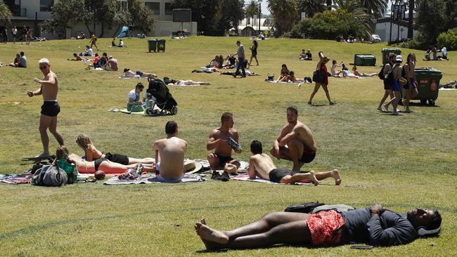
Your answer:
[[[318,185],[318,180],[332,177],[335,178],[335,185],[340,185],[341,183],[340,174],[337,169],[319,173],[315,173],[314,171],[297,173],[290,169],[277,169],[269,155],[263,153],[262,143],[258,140],[252,141],[251,153],[252,156],[249,158],[249,168],[247,169],[247,175],[249,175],[250,179],[255,179],[258,176],[271,182],[285,184],[293,184],[301,180],[311,180],[314,185]]]

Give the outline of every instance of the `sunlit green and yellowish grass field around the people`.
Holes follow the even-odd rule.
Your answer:
[[[82,154],[75,140],[86,133],[98,149],[132,157],[152,157],[154,140],[165,136],[165,123],[174,119],[179,136],[189,143],[188,157],[205,159],[206,138],[219,126],[222,112],[233,112],[235,128],[250,156],[251,140],[269,148],[285,124],[285,108],[296,105],[299,120],[314,133],[318,154],[304,170],[339,169],[342,185],[323,180],[318,187],[264,185],[261,183],[213,182],[193,185],[106,186],[102,183],[67,185],[60,188],[32,185],[0,185],[1,256],[453,256],[456,253],[457,202],[457,91],[439,91],[436,107],[413,105],[411,114],[392,117],[375,109],[382,96],[377,78],[330,79],[329,106],[323,91],[307,106],[313,84],[269,84],[267,73],[278,74],[281,64],[297,77],[311,77],[316,62],[297,60],[302,48],[314,55],[323,51],[330,60],[354,61],[354,53],[373,53],[376,67],[361,72],[379,72],[384,44],[339,44],[335,41],[270,39],[259,42],[259,77],[233,79],[219,74],[191,73],[214,55],[236,52],[237,38],[192,37],[167,39],[165,53],[148,53],[146,40],[126,39],[127,48],[108,48],[110,39],[98,44],[119,61],[120,69],[154,72],[158,77],[208,81],[210,86],[170,87],[179,103],[173,117],[140,117],[107,112],[124,107],[128,91],[139,80],[118,79],[120,72],[84,70],[82,62],[70,62],[73,52],[86,41],[46,41],[0,44],[0,62],[7,64],[15,53],[25,51],[27,69],[0,68],[0,173],[20,173],[31,164],[23,157],[41,152],[38,121],[41,98],[28,98],[26,91],[38,88],[42,77],[39,58],[51,60],[59,79],[61,110],[58,129],[70,151]],[[246,49],[251,42],[240,38]],[[81,48],[79,48],[79,46]],[[402,49],[404,58],[410,51]],[[423,53],[413,51],[422,58]],[[247,53],[250,57],[250,53]],[[457,79],[457,53],[450,61],[423,62],[417,67],[442,70],[443,79]],[[349,66],[349,65],[348,65]],[[330,67],[328,67],[330,69]],[[143,80],[146,83],[146,80]],[[416,101],[417,103],[417,101]],[[50,149],[56,140],[50,135]],[[276,161],[291,168],[290,162]],[[454,181],[454,182],[452,182]],[[271,211],[281,211],[301,202],[344,203],[355,207],[380,203],[403,212],[415,206],[439,209],[443,217],[440,237],[418,239],[405,246],[371,251],[349,246],[305,248],[281,246],[269,249],[207,253],[193,223],[205,217],[221,230],[236,228]]]

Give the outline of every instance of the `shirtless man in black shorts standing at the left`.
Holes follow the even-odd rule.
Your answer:
[[[44,103],[41,105],[41,117],[39,119],[39,133],[43,144],[43,152],[37,156],[37,158],[42,158],[49,157],[49,137],[46,132],[48,129],[59,145],[65,144],[63,143],[62,135],[57,131],[57,114],[60,112],[60,106],[57,103],[57,76],[51,71],[51,65],[49,65],[49,60],[46,58],[39,60],[39,70],[43,72],[44,78],[42,80],[37,78],[33,80],[41,84],[41,86],[37,91],[27,91],[27,95],[30,97],[43,95]]]

